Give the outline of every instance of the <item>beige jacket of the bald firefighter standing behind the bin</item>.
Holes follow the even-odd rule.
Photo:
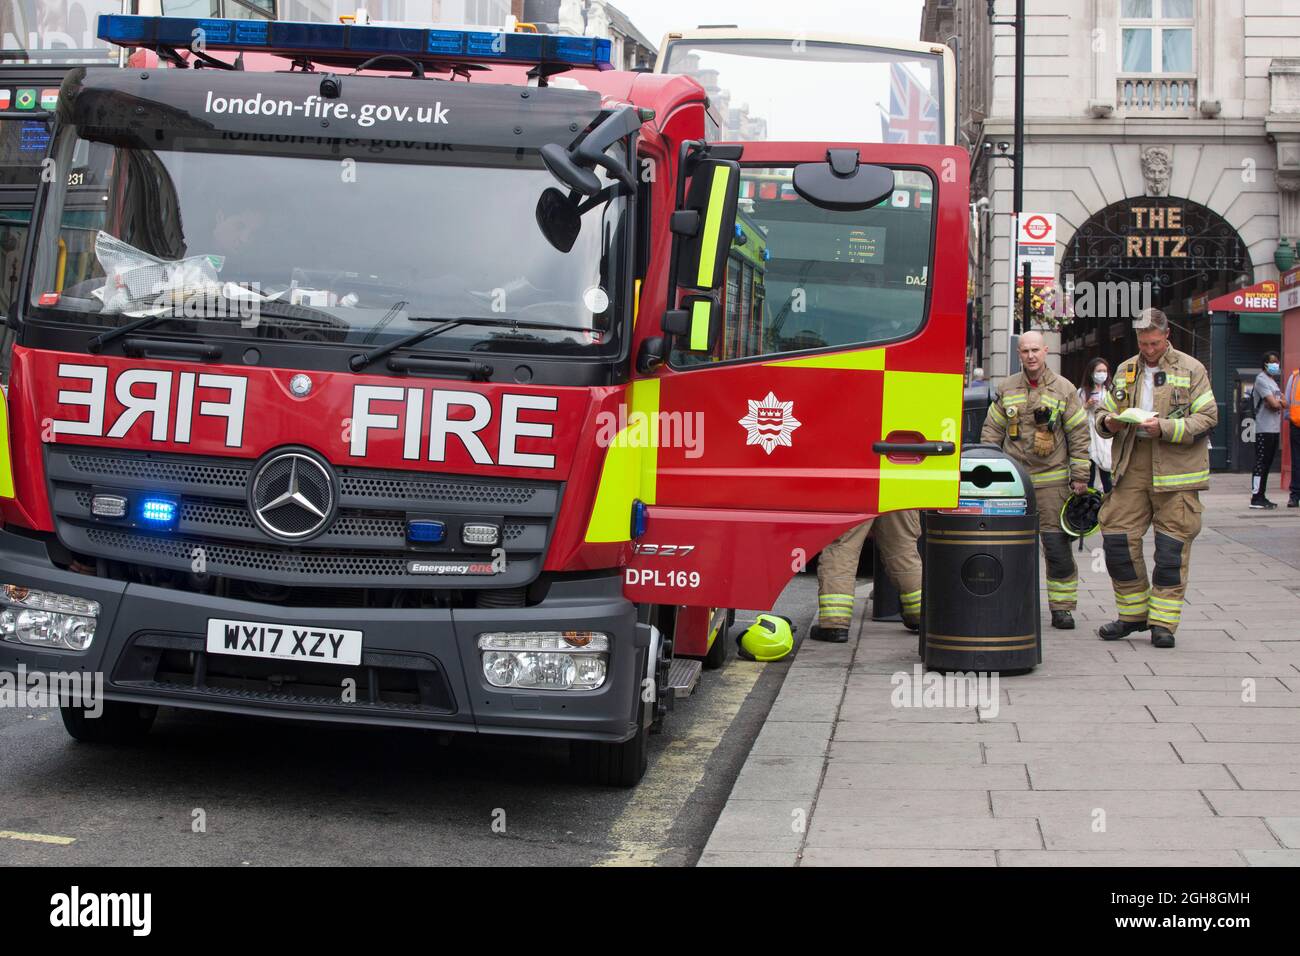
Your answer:
[[[1048,455],[1034,453],[1039,408],[1048,414],[1052,438]],[[1014,437],[1013,431],[1018,432]],[[1079,390],[1050,368],[1043,369],[1036,389],[1030,388],[1024,372],[998,382],[980,441],[1000,446],[1023,464],[1035,488],[1088,480],[1088,411]]]

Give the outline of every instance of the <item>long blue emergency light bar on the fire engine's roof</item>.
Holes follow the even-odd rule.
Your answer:
[[[196,33],[199,30],[203,33]],[[120,47],[182,49],[200,36],[205,51],[247,51],[307,60],[315,56],[322,60],[343,57],[361,61],[389,53],[412,60],[612,69],[610,40],[597,36],[266,20],[130,17],[121,13],[105,13],[99,18],[99,39]]]

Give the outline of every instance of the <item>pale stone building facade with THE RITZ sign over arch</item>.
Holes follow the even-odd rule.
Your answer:
[[[988,7],[927,0],[922,39],[959,38],[959,142],[976,220],[971,362],[997,378],[1015,364],[1013,170],[1001,155],[1014,142],[1015,46]],[[1014,0],[993,7],[998,21],[1014,17]],[[1213,365],[1223,467],[1239,380],[1278,346],[1280,325],[1210,316],[1205,303],[1275,278],[1279,241],[1300,239],[1300,4],[1028,0],[1026,38],[1023,208],[1057,216],[1058,293],[1072,282],[1080,304],[1084,287],[1122,285],[1170,315],[1176,346]],[[1067,376],[1095,355],[1135,351],[1122,310],[1054,302],[1075,312],[1049,333]]]

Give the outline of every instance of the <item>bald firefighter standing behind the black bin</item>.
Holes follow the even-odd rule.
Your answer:
[[[1048,347],[1040,332],[1020,336],[1023,371],[1004,378],[988,407],[980,441],[997,445],[1024,466],[1034,481],[1039,536],[1048,568],[1052,627],[1074,628],[1079,602],[1079,571],[1070,538],[1061,529],[1061,509],[1074,490],[1088,488],[1088,410],[1079,390],[1048,368]]]

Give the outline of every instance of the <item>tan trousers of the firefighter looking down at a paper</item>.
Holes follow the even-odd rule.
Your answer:
[[[1178,631],[1187,589],[1192,538],[1201,531],[1196,492],[1157,492],[1152,486],[1150,446],[1139,438],[1128,471],[1101,506],[1101,544],[1121,620],[1144,620]],[[1141,540],[1156,525],[1156,568],[1147,580]]]

